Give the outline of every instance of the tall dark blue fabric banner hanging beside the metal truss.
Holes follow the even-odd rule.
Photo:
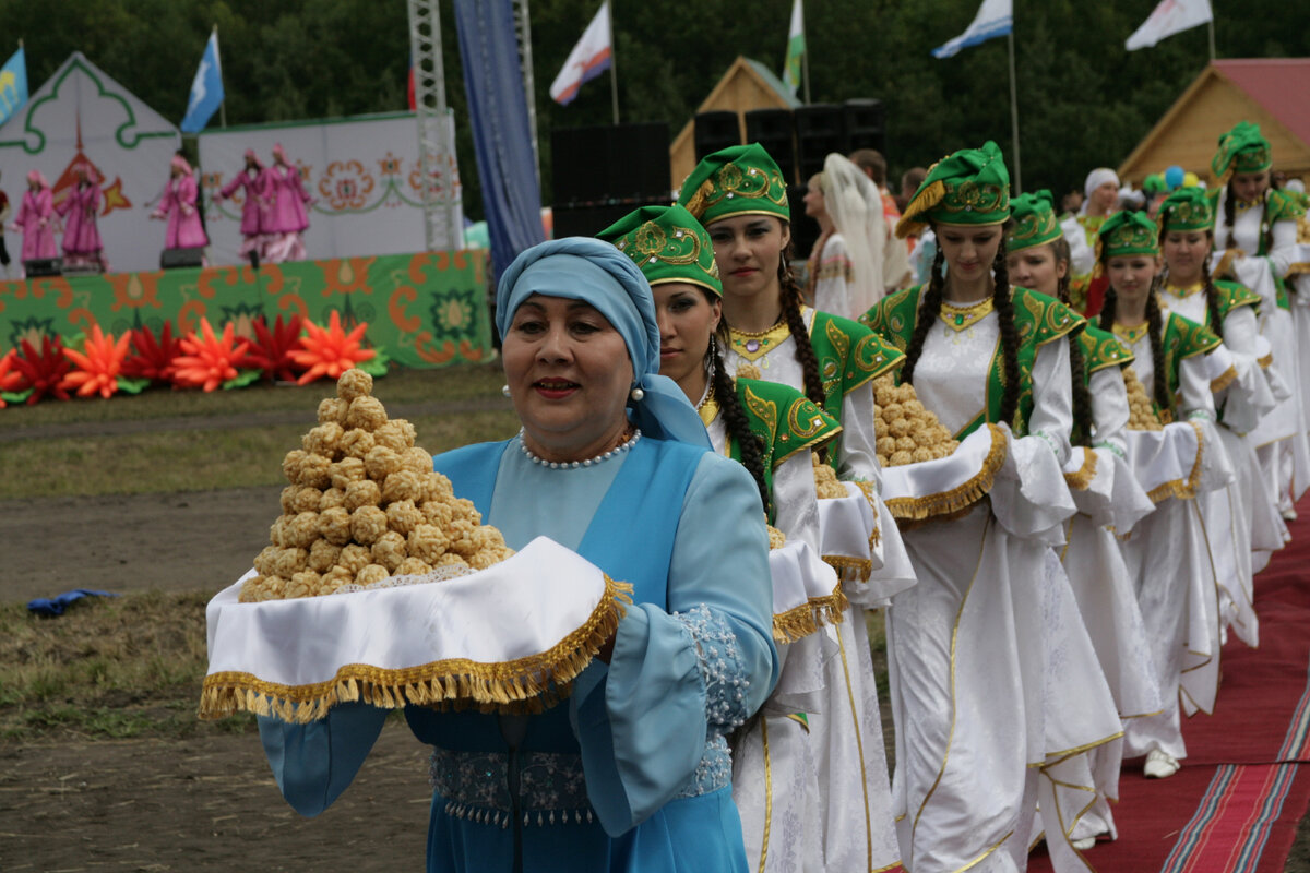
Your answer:
[[[495,277],[545,240],[511,0],[456,0],[464,88]]]

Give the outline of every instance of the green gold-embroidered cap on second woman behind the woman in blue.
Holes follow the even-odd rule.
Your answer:
[[[706,154],[683,182],[677,202],[705,226],[739,215],[791,221],[787,181],[758,143]]]

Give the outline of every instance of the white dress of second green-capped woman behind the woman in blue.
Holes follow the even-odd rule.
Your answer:
[[[814,310],[807,308],[803,317],[807,326],[812,325]],[[790,334],[753,361],[731,348],[723,357],[730,373],[753,364],[761,378],[804,391],[803,368],[795,359]],[[874,415],[871,382],[846,394],[842,432],[829,444],[829,452],[837,454],[841,479],[879,482]],[[812,480],[812,471],[807,475]],[[867,490],[866,495],[878,520],[882,554],[870,555],[875,565],[869,580],[848,576],[844,581],[850,605],[840,624],[823,628],[823,636],[836,650],[824,662],[824,700],[807,711],[810,747],[819,784],[825,787],[819,792],[817,809],[821,857],[829,873],[866,873],[900,859],[891,827],[891,784],[865,609],[884,605],[892,594],[913,585],[914,576],[891,513],[875,490]],[[854,774],[859,775],[858,781],[850,779]]]

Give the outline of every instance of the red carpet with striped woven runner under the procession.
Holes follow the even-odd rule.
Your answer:
[[[1098,873],[1281,873],[1310,801],[1310,499],[1292,542],[1255,579],[1260,647],[1224,647],[1214,715],[1183,722],[1187,758],[1148,780],[1124,764],[1116,842],[1083,853]],[[1028,865],[1051,870],[1039,848]]]

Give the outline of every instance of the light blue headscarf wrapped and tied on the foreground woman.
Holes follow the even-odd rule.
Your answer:
[[[627,401],[633,420],[647,436],[711,448],[696,407],[673,380],[659,374],[659,323],[646,276],[633,259],[608,242],[566,237],[536,245],[502,274],[495,296],[495,326],[504,336],[514,313],[532,294],[591,304],[627,346],[633,387],[645,397]]]

